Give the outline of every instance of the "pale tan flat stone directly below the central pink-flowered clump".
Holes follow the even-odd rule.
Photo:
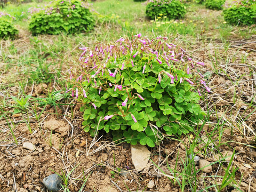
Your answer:
[[[135,169],[139,172],[142,171],[148,164],[150,157],[150,151],[146,146],[137,144],[135,146],[131,145],[132,153],[132,163]]]

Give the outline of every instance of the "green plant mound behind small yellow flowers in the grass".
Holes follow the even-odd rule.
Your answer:
[[[149,0],[146,14],[150,19],[166,17],[167,19],[180,19],[186,14],[185,5],[178,0]]]

